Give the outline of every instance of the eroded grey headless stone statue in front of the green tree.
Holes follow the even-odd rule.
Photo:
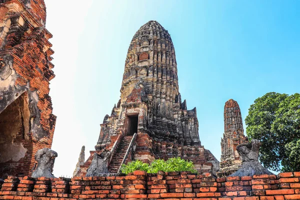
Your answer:
[[[264,168],[258,161],[258,150],[260,147],[260,141],[252,139],[251,142],[246,144],[239,144],[236,146],[236,150],[242,158],[241,167],[229,176],[245,176],[245,175],[257,175],[257,174],[273,174],[266,168]]]

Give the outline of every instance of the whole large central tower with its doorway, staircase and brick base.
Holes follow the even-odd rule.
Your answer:
[[[131,159],[151,162],[174,156],[194,161],[202,172],[218,168],[199,140],[196,108],[187,110],[181,101],[174,46],[157,21],[145,23],[133,36],[120,92],[95,146],[97,151],[111,150],[110,172]],[[94,152],[77,175],[85,174]]]

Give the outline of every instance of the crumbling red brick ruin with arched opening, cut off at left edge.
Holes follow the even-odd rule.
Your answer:
[[[51,147],[53,51],[45,21],[43,0],[0,0],[0,177],[30,175],[35,152]]]

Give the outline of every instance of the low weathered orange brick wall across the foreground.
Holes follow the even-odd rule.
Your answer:
[[[125,176],[18,178],[1,182],[0,199],[300,199],[300,172],[214,178],[189,172],[134,171]]]

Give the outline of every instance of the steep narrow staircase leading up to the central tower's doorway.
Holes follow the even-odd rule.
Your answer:
[[[126,154],[126,151],[128,149],[128,146],[130,144],[132,137],[133,137],[132,135],[124,136],[122,141],[118,144],[117,149],[116,149],[115,153],[113,154],[111,162],[108,166],[109,172],[117,173],[117,171],[121,165],[121,162],[123,161],[123,158]]]

